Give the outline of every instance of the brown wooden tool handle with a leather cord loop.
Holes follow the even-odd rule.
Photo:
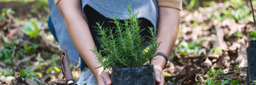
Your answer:
[[[72,76],[72,73],[71,73],[71,70],[70,70],[70,67],[69,67],[69,62],[68,62],[68,57],[67,57],[67,50],[63,49],[63,50],[59,51],[60,59],[62,58],[63,54],[64,54],[64,56],[63,56],[63,59],[62,59],[62,66],[63,66],[63,70],[65,72],[66,82],[69,81],[69,80],[74,81],[74,78]]]

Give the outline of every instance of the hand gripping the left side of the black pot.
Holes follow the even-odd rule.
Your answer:
[[[112,81],[111,81],[111,73],[110,72],[98,72],[98,76],[97,76],[97,81],[98,81],[98,85],[111,85]]]

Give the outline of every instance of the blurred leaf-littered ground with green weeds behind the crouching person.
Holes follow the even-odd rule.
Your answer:
[[[256,40],[249,0],[182,0],[181,22],[167,85],[246,80],[248,41]],[[252,0],[256,10],[256,0]],[[254,11],[255,14],[255,11]],[[65,85],[61,50],[48,29],[47,0],[0,0],[0,85]],[[80,62],[70,63],[75,81]],[[225,78],[225,79],[223,79]],[[232,82],[230,80],[230,82]]]

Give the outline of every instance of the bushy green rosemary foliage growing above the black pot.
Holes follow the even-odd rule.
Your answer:
[[[139,23],[141,21],[137,18],[138,13],[133,11],[134,8],[130,9],[129,4],[127,6],[128,9],[126,10],[129,12],[129,17],[124,20],[125,23],[121,24],[115,16],[112,19],[116,27],[110,28],[110,30],[102,28],[102,25],[96,23],[98,25],[98,27],[95,27],[98,28],[96,31],[98,31],[98,35],[102,35],[102,37],[98,37],[98,40],[103,50],[98,52],[94,47],[91,51],[96,54],[98,57],[97,63],[100,63],[100,67],[104,67],[104,70],[110,71],[110,68],[115,66],[122,68],[143,67],[145,62],[152,60],[151,58],[156,56],[153,55],[154,52],[159,50],[157,48],[161,42],[156,42],[156,39],[160,36],[154,35],[156,32],[154,28],[148,27],[150,30],[148,32],[151,33],[152,37],[144,37],[149,37],[152,40],[151,42],[146,42],[150,44],[147,49],[148,52],[143,51],[146,48],[143,44],[146,43],[142,43],[144,37],[140,35],[140,32],[145,28],[140,28]],[[106,35],[107,32],[110,35]],[[102,56],[102,52],[106,55]]]

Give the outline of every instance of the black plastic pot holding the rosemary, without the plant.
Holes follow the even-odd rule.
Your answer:
[[[112,68],[112,85],[156,85],[154,66]]]

